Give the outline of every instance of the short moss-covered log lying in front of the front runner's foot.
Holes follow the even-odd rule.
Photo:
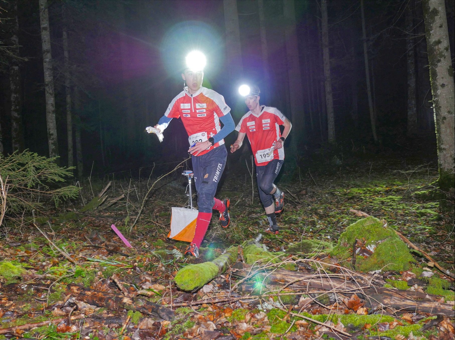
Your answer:
[[[201,289],[237,260],[237,249],[237,246],[232,246],[225,254],[212,261],[183,267],[174,278],[177,287],[186,291]]]

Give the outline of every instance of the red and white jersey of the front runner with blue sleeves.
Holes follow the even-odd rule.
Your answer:
[[[195,94],[190,95],[187,89],[185,87],[171,101],[164,115],[168,118],[182,118],[191,146],[216,135],[221,130],[219,117],[227,115],[231,108],[223,96],[213,90],[201,86]],[[202,151],[199,156],[223,144],[224,139]]]

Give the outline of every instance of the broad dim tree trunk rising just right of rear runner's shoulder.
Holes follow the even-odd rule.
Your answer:
[[[298,57],[298,42],[295,23],[294,0],[283,0],[284,19],[286,28],[284,31],[286,39],[286,55],[288,59],[289,79],[289,101],[291,105],[291,119],[296,129],[295,137],[303,136],[305,133],[305,113],[303,110],[303,86],[300,73],[300,60]],[[297,145],[298,138],[293,138],[294,145]]]

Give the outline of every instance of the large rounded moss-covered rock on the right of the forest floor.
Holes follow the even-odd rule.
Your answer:
[[[356,267],[359,270],[402,271],[410,269],[411,264],[415,263],[407,245],[394,230],[384,227],[382,221],[372,216],[349,225],[331,253],[340,260],[349,259],[356,239],[364,241],[365,247],[373,252],[370,256],[357,256]]]

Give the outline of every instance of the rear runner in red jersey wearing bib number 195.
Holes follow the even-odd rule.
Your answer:
[[[256,163],[259,197],[264,205],[269,228],[266,232],[278,234],[275,213],[283,211],[284,194],[273,181],[277,178],[284,161],[284,140],[292,128],[291,122],[275,107],[259,105],[261,91],[257,86],[245,97],[250,109],[238,123],[237,140],[231,145],[231,152],[238,150],[245,135],[251,144]],[[283,134],[280,125],[284,126]]]

